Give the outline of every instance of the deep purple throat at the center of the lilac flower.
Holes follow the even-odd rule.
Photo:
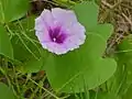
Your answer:
[[[52,42],[62,44],[66,40],[66,34],[61,30],[61,26],[48,30]]]

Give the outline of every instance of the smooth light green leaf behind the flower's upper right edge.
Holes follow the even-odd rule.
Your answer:
[[[78,3],[73,9],[79,22],[85,25],[87,30],[98,24],[99,7],[95,2]]]

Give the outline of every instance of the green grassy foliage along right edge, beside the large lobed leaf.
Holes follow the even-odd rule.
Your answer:
[[[118,67],[112,78],[107,81],[107,91],[108,94],[114,96],[116,99],[131,99],[132,35],[123,38],[123,41],[118,45],[114,58],[118,63]],[[102,95],[102,97],[105,97],[106,95],[107,94]],[[109,99],[109,96],[106,99]]]

